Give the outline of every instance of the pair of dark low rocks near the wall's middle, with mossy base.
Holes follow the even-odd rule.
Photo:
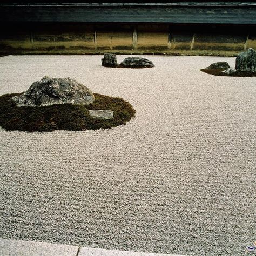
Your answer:
[[[102,65],[110,68],[153,68],[154,64],[148,59],[140,57],[128,57],[125,58],[119,65],[117,64],[117,56],[112,53],[104,53],[102,59]]]

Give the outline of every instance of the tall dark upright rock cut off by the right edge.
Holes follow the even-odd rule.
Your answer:
[[[256,72],[256,51],[249,48],[239,53],[235,59],[235,68],[241,71]]]

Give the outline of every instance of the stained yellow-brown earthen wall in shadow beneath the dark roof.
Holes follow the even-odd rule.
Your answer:
[[[12,22],[0,53],[156,53],[233,56],[256,48],[254,25]]]

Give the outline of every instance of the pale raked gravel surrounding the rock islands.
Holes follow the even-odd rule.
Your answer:
[[[120,63],[127,56],[117,56]],[[256,237],[256,77],[199,71],[227,57],[0,58],[0,95],[43,76],[122,97],[136,118],[111,130],[0,130],[0,237],[188,255],[240,255]]]

